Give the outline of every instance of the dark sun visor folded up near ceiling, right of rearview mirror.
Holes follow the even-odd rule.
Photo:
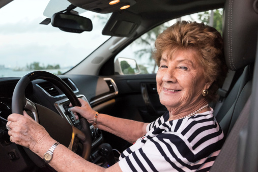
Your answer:
[[[102,35],[130,37],[140,25],[140,16],[129,11],[111,15],[103,28]]]

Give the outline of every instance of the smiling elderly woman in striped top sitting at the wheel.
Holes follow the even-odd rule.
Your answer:
[[[213,27],[182,21],[161,33],[155,47],[157,90],[168,110],[162,117],[149,124],[115,118],[98,114],[83,100],[81,107],[71,109],[95,127],[134,143],[116,164],[104,169],[85,161],[59,145],[25,112],[8,117],[11,141],[42,158],[54,145],[48,163],[58,171],[208,171],[223,140],[208,105],[226,73],[222,38]]]

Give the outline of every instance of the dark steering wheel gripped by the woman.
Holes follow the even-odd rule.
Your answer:
[[[73,150],[76,141],[79,139],[83,145],[81,156],[88,160],[91,154],[91,130],[88,121],[81,118],[80,114],[78,114],[82,127],[82,129],[79,130],[71,126],[68,121],[62,118],[58,113],[26,99],[25,89],[31,81],[36,79],[44,79],[52,82],[63,91],[73,106],[81,106],[76,95],[61,78],[49,72],[34,71],[26,74],[18,81],[12,97],[12,113],[23,114],[23,109],[30,110],[33,113],[35,121],[42,125],[53,139],[59,141],[60,144],[63,144],[70,150]],[[36,165],[39,167],[45,165],[41,157],[27,148],[24,148],[24,150]]]

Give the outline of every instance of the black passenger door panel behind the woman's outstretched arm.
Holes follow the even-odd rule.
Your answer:
[[[123,111],[119,117],[152,122],[166,111],[159,101],[156,74],[114,75],[112,78],[119,90],[116,106]]]

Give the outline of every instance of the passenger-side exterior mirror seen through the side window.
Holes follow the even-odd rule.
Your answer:
[[[114,72],[120,75],[134,75],[140,73],[140,68],[134,59],[118,58],[114,62]]]

